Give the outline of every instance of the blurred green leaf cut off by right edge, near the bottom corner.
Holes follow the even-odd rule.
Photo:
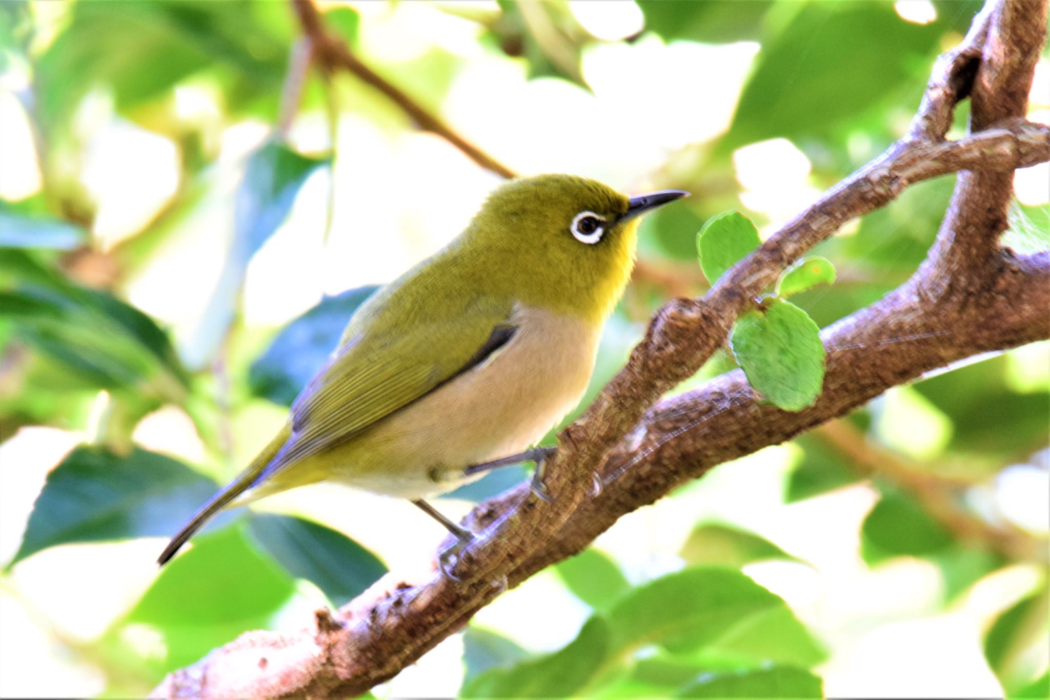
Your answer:
[[[1038,683],[1036,676],[1045,669],[1041,667],[1038,656],[1032,655],[1031,648],[1046,649],[1050,634],[1050,590],[1046,584],[1035,593],[1022,598],[1000,615],[995,623],[988,630],[984,640],[985,658],[995,673],[1007,697],[1023,697],[1027,686]],[[1046,698],[1046,693],[1036,696]]]

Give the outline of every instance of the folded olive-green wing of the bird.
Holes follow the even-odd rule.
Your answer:
[[[259,479],[346,440],[483,362],[513,336],[509,317],[508,309],[479,304],[407,328],[362,324],[292,404],[291,436]]]

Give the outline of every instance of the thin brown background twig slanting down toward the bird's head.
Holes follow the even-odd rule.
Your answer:
[[[357,76],[394,101],[404,113],[416,122],[419,128],[438,134],[482,168],[491,170],[503,177],[516,176],[512,170],[459,135],[447,124],[424,109],[397,86],[364,65],[351,52],[346,44],[329,34],[328,29],[324,28],[320,13],[317,12],[312,0],[293,0],[292,5],[295,7],[303,33],[313,44],[314,58],[324,70],[333,71],[338,68]]]

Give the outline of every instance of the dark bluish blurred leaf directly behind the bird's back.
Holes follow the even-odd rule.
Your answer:
[[[326,297],[286,325],[252,363],[248,374],[252,394],[291,406],[339,344],[351,316],[377,289],[359,287]]]

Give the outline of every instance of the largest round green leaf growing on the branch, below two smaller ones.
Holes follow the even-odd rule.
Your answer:
[[[804,311],[782,299],[741,316],[730,346],[751,386],[784,410],[812,406],[824,381],[820,328]]]

